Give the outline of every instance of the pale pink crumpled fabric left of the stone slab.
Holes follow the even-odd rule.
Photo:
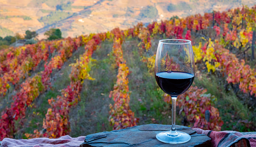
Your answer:
[[[10,139],[4,138],[1,147],[79,147],[84,142],[85,136],[72,138],[68,135],[58,139],[33,138],[33,139]]]

